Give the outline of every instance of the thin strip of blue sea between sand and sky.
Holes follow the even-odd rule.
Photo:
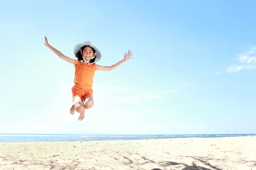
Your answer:
[[[0,133],[0,142],[61,142],[61,141],[107,141],[174,138],[220,138],[256,136],[256,134],[195,134],[195,135],[81,135],[81,134],[26,134]]]

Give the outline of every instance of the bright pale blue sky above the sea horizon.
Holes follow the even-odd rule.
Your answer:
[[[0,133],[256,133],[256,2],[3,1]],[[94,106],[70,116],[75,58],[91,41]]]

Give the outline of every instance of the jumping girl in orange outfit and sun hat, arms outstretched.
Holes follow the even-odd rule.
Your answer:
[[[71,59],[49,45],[46,36],[44,39],[44,45],[50,48],[55,54],[58,55],[58,57],[75,65],[75,85],[72,87],[74,104],[70,108],[70,114],[73,115],[75,110],[80,113],[78,118],[79,121],[84,119],[85,109],[93,107],[93,90],[91,87],[93,86],[93,77],[95,71],[112,71],[125,61],[133,58],[131,57],[132,54],[129,50],[127,54],[125,52],[124,59],[116,64],[111,66],[100,66],[96,65],[95,62],[101,59],[101,53],[99,49],[96,48],[95,45],[93,45],[90,41],[76,45],[74,48],[74,54],[77,59]]]

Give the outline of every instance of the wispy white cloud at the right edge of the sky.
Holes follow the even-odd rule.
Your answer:
[[[236,54],[236,60],[239,64],[230,65],[226,71],[233,73],[241,70],[256,69],[256,56],[251,56],[251,54],[256,54],[256,47],[251,48],[244,54]]]

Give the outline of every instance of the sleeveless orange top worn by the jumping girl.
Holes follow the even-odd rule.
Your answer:
[[[93,86],[93,77],[96,70],[97,66],[95,62],[93,64],[87,64],[76,60],[74,83],[81,86]]]

